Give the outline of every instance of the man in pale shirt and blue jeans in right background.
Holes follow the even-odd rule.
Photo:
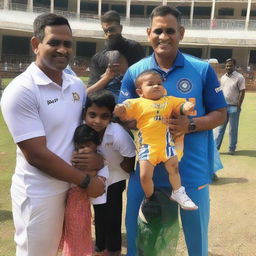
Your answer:
[[[242,74],[235,70],[235,59],[227,59],[225,63],[226,73],[221,77],[220,82],[225,100],[228,104],[228,116],[226,122],[214,130],[214,138],[217,149],[219,150],[227,124],[229,123],[228,153],[234,155],[237,145],[239,116],[245,95],[245,79]]]

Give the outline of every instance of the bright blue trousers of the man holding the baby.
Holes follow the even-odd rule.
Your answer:
[[[155,186],[170,186],[166,182],[168,181],[167,173],[162,169],[163,168],[159,168],[159,170],[154,171],[154,184]],[[166,173],[166,177],[164,177],[165,174],[163,172]],[[156,178],[156,173],[158,178]],[[165,182],[163,179],[165,179]],[[199,206],[199,209],[196,211],[180,211],[189,256],[207,256],[210,212],[209,186],[206,186],[201,190],[198,190],[198,188],[186,188],[186,192]],[[133,173],[129,179],[127,191],[127,256],[139,256],[136,248],[137,220],[140,204],[143,198],[144,193],[140,185],[139,170],[137,168],[136,173]],[[170,214],[177,214],[177,212]]]

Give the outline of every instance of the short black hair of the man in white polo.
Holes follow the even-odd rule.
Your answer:
[[[54,13],[44,13],[36,17],[34,20],[34,36],[41,41],[44,39],[44,30],[46,26],[60,26],[67,25],[71,30],[68,20],[60,15]]]

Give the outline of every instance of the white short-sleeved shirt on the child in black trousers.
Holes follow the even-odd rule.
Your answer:
[[[124,157],[135,156],[135,145],[131,136],[120,124],[110,123],[107,126],[98,150],[102,153],[108,165],[108,186],[129,178],[129,174],[121,168],[120,163]]]

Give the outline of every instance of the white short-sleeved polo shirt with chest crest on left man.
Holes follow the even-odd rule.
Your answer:
[[[62,79],[62,86],[57,85],[32,63],[7,86],[1,107],[15,143],[45,136],[48,149],[70,163],[85,89],[79,78],[63,72]],[[69,188],[68,183],[31,166],[19,147],[12,186],[34,198],[56,195]]]

